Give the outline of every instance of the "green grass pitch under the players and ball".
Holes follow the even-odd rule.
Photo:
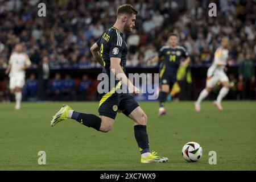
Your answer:
[[[212,102],[195,113],[193,102],[166,104],[167,115],[158,116],[157,102],[141,102],[148,116],[151,150],[167,156],[163,164],[141,164],[133,122],[118,114],[109,133],[72,121],[49,125],[64,102],[0,104],[0,170],[256,170],[256,102],[224,101],[225,111]],[[97,114],[97,102],[67,102],[77,111]],[[181,148],[194,141],[203,158],[185,162]],[[38,152],[46,152],[46,165]],[[209,151],[217,152],[210,165]]]

